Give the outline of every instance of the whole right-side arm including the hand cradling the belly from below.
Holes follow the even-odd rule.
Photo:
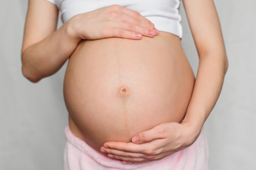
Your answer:
[[[216,104],[228,65],[218,15],[213,0],[183,2],[200,60],[186,116],[180,124],[159,124],[138,133],[130,143],[106,142],[102,149],[110,157],[143,163],[187,148],[198,138]]]

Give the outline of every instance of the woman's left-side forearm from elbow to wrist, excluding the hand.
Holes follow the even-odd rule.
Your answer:
[[[72,37],[71,28],[61,26],[42,41],[22,51],[22,72],[32,82],[57,72],[75,50],[79,39]]]

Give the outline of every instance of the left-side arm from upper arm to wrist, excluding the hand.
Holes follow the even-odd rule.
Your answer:
[[[45,0],[29,0],[22,46],[22,72],[32,82],[57,72],[79,39],[68,35],[66,25],[56,31],[57,7]]]

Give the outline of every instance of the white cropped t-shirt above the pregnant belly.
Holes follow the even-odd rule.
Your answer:
[[[74,15],[93,11],[113,4],[119,4],[139,12],[159,31],[165,31],[182,37],[180,0],[47,0],[56,4],[61,13],[62,22]]]

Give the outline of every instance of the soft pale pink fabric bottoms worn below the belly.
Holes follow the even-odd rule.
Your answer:
[[[65,129],[64,170],[208,170],[208,145],[202,131],[189,148],[159,161],[141,164],[122,164],[99,154],[76,137],[69,126]]]

